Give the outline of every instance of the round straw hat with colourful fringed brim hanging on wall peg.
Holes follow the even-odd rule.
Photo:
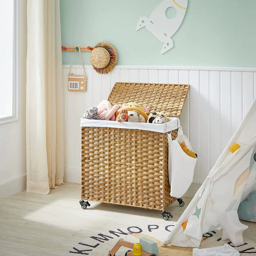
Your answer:
[[[109,73],[117,62],[115,47],[106,42],[98,43],[91,52],[90,61],[95,71],[99,74]]]

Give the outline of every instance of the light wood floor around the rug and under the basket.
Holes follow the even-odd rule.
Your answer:
[[[161,212],[112,204],[96,204],[83,210],[79,204],[80,185],[66,183],[52,189],[49,195],[25,191],[0,201],[1,256],[61,256],[70,247],[92,234],[92,231],[139,226],[141,223],[168,223]],[[177,221],[190,202],[183,198],[184,207],[174,202],[168,207]],[[95,203],[94,203],[95,204]],[[244,237],[256,242],[256,223]]]

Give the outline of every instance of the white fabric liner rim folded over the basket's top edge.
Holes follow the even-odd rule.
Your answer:
[[[180,119],[178,117],[170,117],[170,119],[170,122],[164,124],[149,124],[137,122],[119,123],[116,121],[81,118],[81,127],[111,127],[165,133],[178,129],[180,127]]]

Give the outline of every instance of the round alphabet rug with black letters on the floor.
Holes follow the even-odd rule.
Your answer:
[[[190,247],[177,247],[170,244],[167,247],[161,247],[162,241],[170,234],[174,223],[169,222],[166,225],[148,223],[148,225],[143,224],[141,226],[115,228],[95,234],[92,231],[91,236],[75,244],[63,256],[107,256],[120,238],[132,243],[138,243],[141,237],[147,237],[157,243],[159,256],[191,256],[193,254],[193,248]],[[222,241],[221,235],[222,230],[215,230],[204,234],[200,249],[222,246],[226,243],[234,247],[229,240]],[[256,244],[246,238],[244,239],[244,245],[234,247],[234,249],[240,252],[241,256],[256,255]],[[116,251],[115,256],[124,256],[128,250],[132,249],[121,246]]]

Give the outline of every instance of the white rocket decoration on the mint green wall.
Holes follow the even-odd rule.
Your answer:
[[[163,43],[161,54],[172,49],[172,36],[180,27],[187,10],[188,0],[164,0],[159,4],[149,17],[140,17],[136,30],[146,27],[159,41]],[[176,15],[173,18],[166,17],[166,10],[174,7]]]

